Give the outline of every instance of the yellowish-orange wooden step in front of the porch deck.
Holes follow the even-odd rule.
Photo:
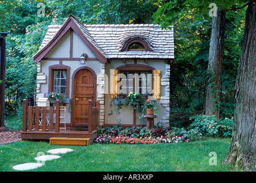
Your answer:
[[[67,138],[67,137],[52,137],[49,138],[50,145],[90,145],[90,138]]]

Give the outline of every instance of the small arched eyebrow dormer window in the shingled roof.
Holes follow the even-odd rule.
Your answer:
[[[125,42],[124,47],[121,51],[132,51],[132,50],[145,50],[152,51],[143,38],[131,38]]]

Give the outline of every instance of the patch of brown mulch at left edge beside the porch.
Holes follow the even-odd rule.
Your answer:
[[[21,141],[21,131],[0,132],[0,145]]]

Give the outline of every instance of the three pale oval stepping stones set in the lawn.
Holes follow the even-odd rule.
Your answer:
[[[36,169],[41,167],[42,165],[45,165],[45,161],[50,161],[50,160],[55,160],[58,158],[61,158],[58,155],[53,155],[53,154],[64,154],[64,153],[68,153],[68,152],[72,152],[73,149],[69,149],[69,148],[58,148],[58,149],[51,149],[48,150],[48,153],[50,153],[50,155],[42,155],[42,156],[37,156],[34,159],[37,162],[29,162],[29,163],[25,163],[25,164],[19,164],[19,165],[15,165],[13,166],[14,170],[31,170],[31,169]]]

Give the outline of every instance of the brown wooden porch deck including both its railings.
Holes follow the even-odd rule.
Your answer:
[[[64,138],[89,138],[88,144],[92,144],[97,137],[97,128],[99,128],[99,101],[92,103],[89,100],[88,105],[88,124],[87,130],[77,130],[78,126],[67,126],[64,129],[60,127],[60,101],[56,100],[56,108],[53,107],[27,107],[27,101],[23,100],[23,125],[22,140],[49,140],[53,137]],[[55,114],[55,121],[54,121]],[[73,130],[71,130],[73,129]]]

